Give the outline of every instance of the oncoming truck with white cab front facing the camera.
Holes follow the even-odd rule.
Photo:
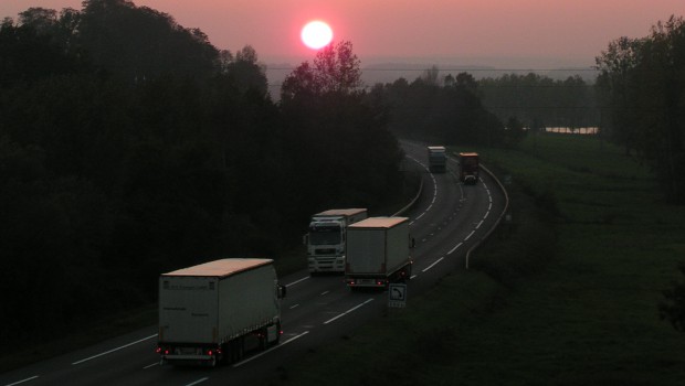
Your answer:
[[[305,236],[309,274],[345,272],[347,227],[367,217],[366,208],[328,210],[313,215]]]

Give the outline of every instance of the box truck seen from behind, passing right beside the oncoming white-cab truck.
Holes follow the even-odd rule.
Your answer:
[[[347,228],[345,281],[351,289],[387,288],[410,279],[407,217],[369,217]]]

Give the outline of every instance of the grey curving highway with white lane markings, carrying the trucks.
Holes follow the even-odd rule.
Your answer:
[[[455,269],[464,269],[466,253],[481,242],[505,211],[499,184],[481,172],[476,185],[462,185],[449,161],[444,174],[428,172],[425,147],[402,142],[405,168],[422,172],[423,190],[403,213],[415,239],[414,265],[407,307],[415,297]],[[390,214],[389,214],[390,215]],[[383,313],[388,293],[350,291],[341,276],[309,277],[306,270],[282,277],[287,298],[282,303],[284,334],[267,351],[251,351],[242,362],[215,368],[160,366],[155,353],[157,326],[149,326],[83,350],[0,375],[0,385],[220,385],[259,384],[278,374],[302,355],[349,336]]]

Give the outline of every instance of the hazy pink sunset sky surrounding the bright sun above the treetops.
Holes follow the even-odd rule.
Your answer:
[[[81,0],[0,0],[0,18],[29,7],[81,9]],[[642,37],[657,21],[685,15],[684,0],[137,0],[199,28],[219,49],[252,45],[262,61],[314,56],[299,41],[319,19],[334,40],[377,57],[558,58],[593,65],[610,41]]]

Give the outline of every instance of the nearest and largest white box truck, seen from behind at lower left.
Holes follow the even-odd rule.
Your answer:
[[[222,259],[159,277],[160,363],[239,362],[249,340],[281,340],[278,285],[271,259]]]

